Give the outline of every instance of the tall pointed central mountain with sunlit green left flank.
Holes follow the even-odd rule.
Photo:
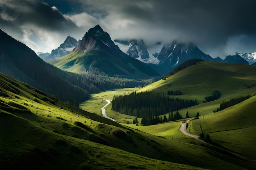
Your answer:
[[[160,76],[143,62],[121,51],[99,25],[85,33],[81,43],[71,53],[49,63],[75,73],[93,72],[143,79]]]

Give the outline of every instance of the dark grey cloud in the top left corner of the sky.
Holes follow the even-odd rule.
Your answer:
[[[66,20],[59,11],[49,8],[46,4],[36,0],[7,0],[2,6],[17,25],[32,24],[48,30],[75,29],[76,25]]]

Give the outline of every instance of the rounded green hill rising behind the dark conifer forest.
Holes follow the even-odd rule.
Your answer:
[[[247,86],[256,84],[256,67],[244,64],[229,64],[218,62],[199,62],[187,67],[166,80],[159,80],[141,91],[179,90],[183,97],[198,99],[217,90],[221,98],[245,91]]]

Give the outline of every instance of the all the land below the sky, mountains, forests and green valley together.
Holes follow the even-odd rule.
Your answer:
[[[253,57],[152,51],[97,25],[38,56],[0,31],[0,169],[256,169]]]

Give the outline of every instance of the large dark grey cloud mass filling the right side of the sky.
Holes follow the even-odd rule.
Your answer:
[[[88,7],[91,5],[94,9],[108,14],[116,13],[124,20],[133,20],[136,24],[130,25],[129,29],[133,30],[134,36],[141,36],[149,41],[149,36],[152,38],[151,41],[157,39],[157,36],[157,41],[171,41],[177,38],[184,42],[195,42],[207,51],[211,49],[224,51],[227,50],[225,48],[229,41],[234,40],[233,37],[245,35],[250,38],[256,34],[255,0],[108,0],[107,2],[87,0],[83,1],[83,4]],[[148,37],[139,29],[147,31]],[[157,31],[161,31],[162,36],[160,34],[154,36],[154,32]],[[250,42],[255,43],[254,40]]]

